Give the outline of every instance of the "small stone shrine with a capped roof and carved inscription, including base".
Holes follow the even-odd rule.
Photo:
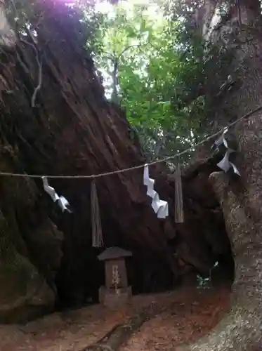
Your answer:
[[[105,261],[105,286],[100,286],[99,301],[101,304],[118,308],[125,305],[132,295],[128,286],[125,258],[132,256],[117,246],[106,249],[98,256],[98,260]]]

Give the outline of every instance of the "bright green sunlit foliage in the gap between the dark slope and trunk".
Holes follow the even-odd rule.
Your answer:
[[[192,145],[203,118],[204,99],[195,98],[203,46],[192,49],[181,29],[183,21],[164,16],[157,4],[126,2],[112,6],[100,26],[95,59],[105,91],[126,110],[148,159]]]

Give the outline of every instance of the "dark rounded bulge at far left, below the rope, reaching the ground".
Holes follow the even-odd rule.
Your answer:
[[[7,169],[10,161],[1,152],[1,170]],[[63,234],[41,214],[31,180],[1,178],[0,194],[0,320],[22,322],[53,309],[55,290],[48,283],[60,267]]]

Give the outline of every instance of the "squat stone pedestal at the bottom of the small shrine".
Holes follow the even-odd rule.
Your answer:
[[[131,286],[126,288],[106,289],[105,286],[100,286],[99,302],[106,307],[117,309],[129,303],[132,296]]]

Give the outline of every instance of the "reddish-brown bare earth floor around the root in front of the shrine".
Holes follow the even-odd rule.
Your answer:
[[[25,326],[0,326],[1,351],[79,351],[95,343],[116,324],[152,302],[166,312],[145,322],[120,351],[168,351],[208,333],[229,307],[230,288],[188,287],[167,293],[133,296],[120,311],[101,305],[56,312]]]

